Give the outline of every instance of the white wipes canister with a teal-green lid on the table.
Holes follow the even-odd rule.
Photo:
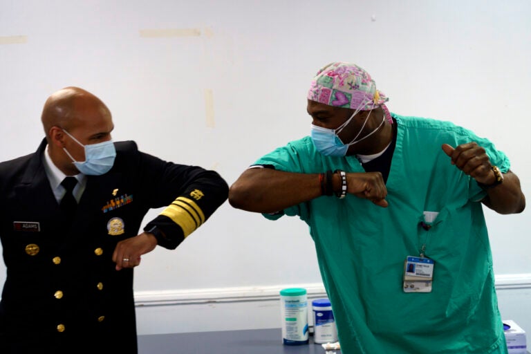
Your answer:
[[[287,345],[308,344],[308,298],[306,289],[280,290],[282,342]]]

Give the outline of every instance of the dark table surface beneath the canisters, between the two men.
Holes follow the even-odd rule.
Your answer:
[[[139,335],[139,354],[324,354],[321,344],[282,344],[280,328]],[[341,354],[341,351],[333,352]]]

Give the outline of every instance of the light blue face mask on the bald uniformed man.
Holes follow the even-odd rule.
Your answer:
[[[68,133],[68,131],[64,129],[63,131],[85,149],[85,160],[79,162],[66,151],[66,148],[63,148],[64,152],[66,152],[66,154],[72,159],[75,167],[77,167],[82,174],[88,176],[100,176],[109,172],[114,165],[114,158],[116,157],[116,149],[114,148],[113,140],[97,144],[83,145],[74,138],[71,133]]]

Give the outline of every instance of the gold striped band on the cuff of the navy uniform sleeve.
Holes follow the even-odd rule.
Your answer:
[[[185,237],[192,234],[205,222],[205,214],[192,199],[178,197],[174,203],[168,205],[160,215],[171,218],[174,223],[183,229]]]

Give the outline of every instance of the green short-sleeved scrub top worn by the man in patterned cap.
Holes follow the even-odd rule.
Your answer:
[[[492,142],[451,122],[392,115],[396,147],[386,182],[389,207],[347,194],[263,214],[299,216],[310,227],[344,354],[507,353],[490,243],[476,181],[441,149],[475,141],[493,165],[510,161]],[[281,171],[364,172],[355,156],[319,153],[309,136],[255,162]],[[438,212],[425,230],[423,212]],[[403,290],[404,260],[425,244],[433,259],[429,293]]]

